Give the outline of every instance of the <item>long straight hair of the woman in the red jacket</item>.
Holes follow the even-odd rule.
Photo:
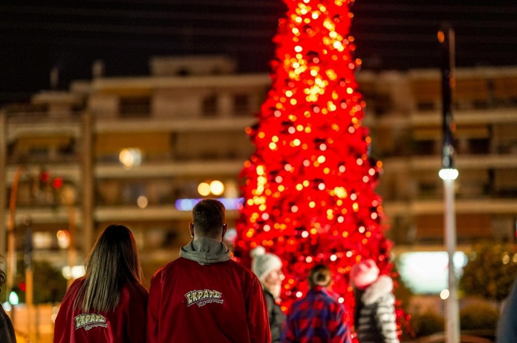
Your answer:
[[[104,229],[86,259],[84,282],[74,307],[88,312],[113,310],[125,284],[142,285],[142,266],[133,233],[123,225]]]

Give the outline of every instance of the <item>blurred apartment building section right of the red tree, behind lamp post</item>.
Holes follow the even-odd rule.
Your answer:
[[[365,73],[366,74],[366,73]],[[385,173],[384,197],[401,249],[443,242],[441,80],[439,70],[366,74],[366,125]],[[458,243],[515,240],[517,68],[459,69],[453,94]]]

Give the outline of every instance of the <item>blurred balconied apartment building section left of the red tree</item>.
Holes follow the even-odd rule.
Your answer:
[[[79,264],[100,230],[124,223],[149,280],[190,239],[190,199],[202,197],[200,184],[216,181],[211,196],[231,199],[227,216],[235,222],[237,174],[253,151],[244,128],[260,110],[268,75],[235,74],[234,62],[218,56],[154,58],[150,70],[146,77],[97,74],[4,109],[4,249],[7,199],[21,166],[17,249],[30,216],[35,256],[56,264],[68,263],[60,246],[69,238],[77,246],[70,264]]]

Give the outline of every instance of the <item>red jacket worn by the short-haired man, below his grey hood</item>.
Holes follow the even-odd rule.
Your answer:
[[[151,279],[147,342],[271,342],[260,282],[232,260],[180,257]]]

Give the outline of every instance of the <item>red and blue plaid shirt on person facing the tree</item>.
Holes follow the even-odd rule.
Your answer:
[[[323,287],[316,286],[289,310],[282,342],[351,343],[344,306]]]

